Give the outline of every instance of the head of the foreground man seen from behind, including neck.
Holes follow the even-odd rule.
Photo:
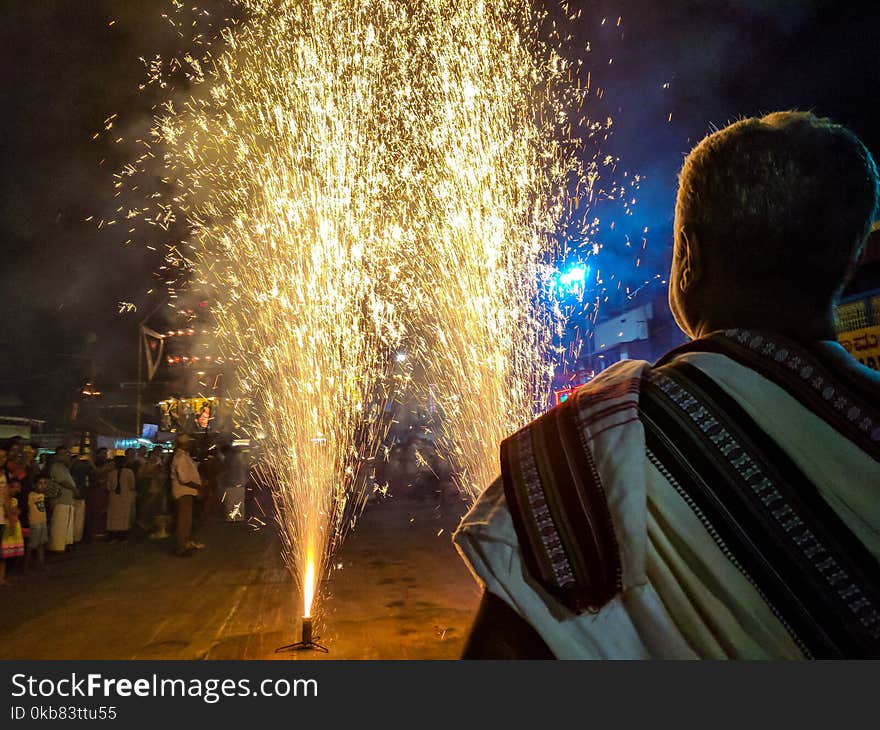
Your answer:
[[[709,135],[679,177],[676,321],[693,337],[762,314],[794,320],[795,309],[827,318],[877,207],[871,154],[827,119],[777,112]]]

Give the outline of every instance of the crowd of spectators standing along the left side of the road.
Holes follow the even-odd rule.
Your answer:
[[[125,543],[133,530],[167,538],[173,520],[174,553],[190,555],[204,547],[193,538],[194,513],[196,522],[243,521],[241,454],[226,446],[193,458],[192,447],[187,435],[173,455],[162,446],[47,454],[22,439],[8,442],[0,448],[0,586],[82,542]]]

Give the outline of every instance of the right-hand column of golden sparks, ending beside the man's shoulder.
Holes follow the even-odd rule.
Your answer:
[[[561,315],[549,297],[566,184],[584,174],[567,114],[581,99],[530,2],[443,3],[408,226],[408,347],[457,486],[475,499],[498,444],[546,409]]]

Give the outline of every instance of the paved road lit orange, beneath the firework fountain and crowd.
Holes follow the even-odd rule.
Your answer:
[[[301,605],[278,538],[221,523],[187,559],[146,538],[54,556],[0,589],[0,658],[453,659],[479,591],[450,542],[463,505],[444,512],[408,498],[367,509],[323,586],[327,655],[274,653],[299,638]]]

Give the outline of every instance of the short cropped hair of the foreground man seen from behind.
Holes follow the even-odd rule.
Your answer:
[[[786,282],[827,304],[852,273],[878,209],[877,166],[858,137],[809,112],[735,122],[679,176],[675,236],[738,285]]]

